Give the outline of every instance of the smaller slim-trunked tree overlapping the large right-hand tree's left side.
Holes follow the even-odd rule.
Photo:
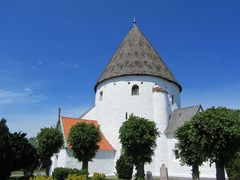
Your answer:
[[[192,166],[192,179],[199,179],[199,166],[206,161],[201,153],[200,145],[191,141],[191,121],[185,123],[176,131],[179,143],[179,157],[182,165]]]

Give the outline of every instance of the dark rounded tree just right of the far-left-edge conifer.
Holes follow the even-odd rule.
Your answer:
[[[32,175],[37,166],[38,157],[36,149],[28,142],[26,133],[10,133],[9,142],[14,162],[11,170],[25,169],[24,172],[30,172]]]

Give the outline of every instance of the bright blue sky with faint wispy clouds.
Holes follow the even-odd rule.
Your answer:
[[[240,108],[240,1],[0,1],[0,117],[37,134],[94,104],[93,87],[137,25],[183,86],[182,106]]]

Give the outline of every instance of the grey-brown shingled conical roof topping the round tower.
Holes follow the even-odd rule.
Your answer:
[[[150,75],[168,80],[182,90],[174,75],[167,68],[136,23],[124,38],[111,61],[98,79],[95,90],[101,82],[119,76]]]

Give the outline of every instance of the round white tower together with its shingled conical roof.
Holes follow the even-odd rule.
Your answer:
[[[164,131],[174,109],[180,108],[181,85],[143,33],[133,24],[95,85],[95,113],[101,130],[121,153],[119,128],[133,114],[156,122],[158,139],[152,165],[165,161]],[[162,159],[162,160],[161,160]],[[164,163],[164,162],[163,162]],[[165,162],[167,163],[167,162]]]

